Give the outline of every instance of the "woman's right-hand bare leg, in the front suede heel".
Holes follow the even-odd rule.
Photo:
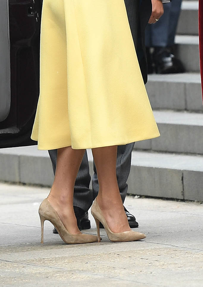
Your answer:
[[[116,177],[117,146],[92,149],[92,154],[99,182],[97,202],[108,226],[112,232],[129,231]]]

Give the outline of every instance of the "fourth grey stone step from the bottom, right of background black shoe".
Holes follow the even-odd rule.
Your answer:
[[[176,35],[175,55],[182,61],[186,71],[199,72],[199,38],[198,36]]]

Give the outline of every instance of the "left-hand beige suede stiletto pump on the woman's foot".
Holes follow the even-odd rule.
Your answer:
[[[59,218],[56,211],[53,209],[51,204],[48,202],[48,199],[45,198],[39,207],[39,215],[40,215],[40,222],[41,222],[41,243],[43,243],[44,237],[44,222],[45,220],[50,221],[56,230],[58,231],[59,235],[61,236],[62,240],[67,244],[79,244],[79,243],[90,243],[96,242],[97,236],[91,234],[70,234],[67,229],[64,227],[61,219]]]

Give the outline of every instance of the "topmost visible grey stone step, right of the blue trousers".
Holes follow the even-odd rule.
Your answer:
[[[198,1],[182,1],[177,34],[198,35]]]

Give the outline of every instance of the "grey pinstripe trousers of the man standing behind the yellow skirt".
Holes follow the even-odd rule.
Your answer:
[[[139,0],[125,0],[128,20],[132,32],[133,40],[136,46],[138,37],[138,20],[139,20]],[[116,7],[115,7],[116,9]],[[117,180],[122,202],[128,191],[127,179],[130,173],[131,154],[134,143],[118,146],[117,152]],[[56,170],[57,150],[49,150],[53,172]],[[74,201],[73,205],[88,210],[93,200],[98,194],[99,185],[97,180],[97,172],[94,164],[94,175],[92,177],[92,190],[89,188],[91,177],[89,174],[89,163],[87,152],[85,152],[78,175],[75,181]]]

